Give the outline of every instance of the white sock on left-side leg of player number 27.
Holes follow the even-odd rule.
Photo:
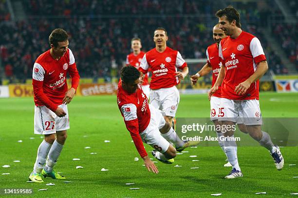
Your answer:
[[[47,156],[49,154],[50,148],[52,147],[51,144],[47,143],[45,140],[43,140],[38,149],[37,149],[37,157],[36,162],[34,164],[33,173],[40,173],[45,162],[47,159]]]

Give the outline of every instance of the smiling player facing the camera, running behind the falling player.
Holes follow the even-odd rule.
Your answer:
[[[139,70],[146,74],[151,69],[150,104],[164,111],[166,121],[172,125],[180,100],[176,85],[186,77],[188,67],[179,51],[167,47],[168,35],[164,28],[154,31],[153,40],[155,48],[144,55]]]

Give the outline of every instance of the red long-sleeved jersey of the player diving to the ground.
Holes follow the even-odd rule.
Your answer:
[[[120,81],[117,90],[117,103],[135,147],[141,157],[146,156],[147,152],[140,136],[140,133],[145,131],[150,122],[150,109],[146,94],[144,94],[141,86],[135,93],[128,93],[122,88]]]

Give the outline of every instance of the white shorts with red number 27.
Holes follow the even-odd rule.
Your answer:
[[[69,117],[66,104],[60,104],[66,115],[58,117],[46,106],[35,106],[34,110],[34,133],[35,134],[52,134],[69,129]]]

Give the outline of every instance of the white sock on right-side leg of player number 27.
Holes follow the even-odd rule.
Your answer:
[[[47,163],[44,166],[44,170],[46,172],[52,172],[54,166],[56,165],[56,162],[58,160],[58,157],[61,153],[62,148],[63,148],[63,145],[60,145],[57,142],[57,140],[55,140],[52,148],[50,149]]]

